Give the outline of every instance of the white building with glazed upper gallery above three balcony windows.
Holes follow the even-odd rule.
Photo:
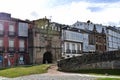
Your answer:
[[[83,34],[80,29],[62,27],[62,57],[80,56],[83,51]]]

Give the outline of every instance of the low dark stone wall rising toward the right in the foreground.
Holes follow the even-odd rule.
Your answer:
[[[58,61],[58,69],[75,71],[80,69],[120,69],[119,51],[84,54]]]

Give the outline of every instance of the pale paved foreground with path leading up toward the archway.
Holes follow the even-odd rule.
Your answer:
[[[48,69],[48,73],[22,76],[17,78],[0,77],[0,80],[96,80],[96,78],[100,77],[120,78],[115,76],[95,76],[87,74],[64,73],[57,71],[56,66],[51,66]]]

